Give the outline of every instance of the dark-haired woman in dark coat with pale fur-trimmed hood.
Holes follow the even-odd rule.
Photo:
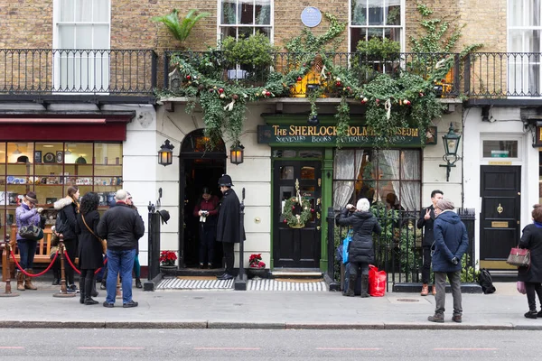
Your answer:
[[[68,187],[68,195],[54,202],[54,208],[58,210],[55,224],[56,231],[63,236],[66,253],[73,263],[78,248],[75,223],[79,213],[79,188],[75,186]],[[70,264],[66,267],[66,278],[70,285],[68,292],[76,292],[77,286],[73,279],[73,269]]]

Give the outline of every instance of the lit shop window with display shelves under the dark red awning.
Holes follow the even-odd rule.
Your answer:
[[[105,211],[122,182],[122,143],[0,143],[0,224],[14,224],[15,208],[30,190],[52,225],[52,204],[68,187],[79,187],[81,196],[97,192]]]

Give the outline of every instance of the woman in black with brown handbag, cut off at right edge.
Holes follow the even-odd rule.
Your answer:
[[[527,291],[528,319],[542,318],[542,310],[537,313],[537,299],[542,306],[542,205],[535,204],[532,212],[533,224],[523,228],[519,248],[530,251],[530,266],[518,268],[518,281],[525,282]]]

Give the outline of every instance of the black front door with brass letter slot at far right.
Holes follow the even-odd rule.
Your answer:
[[[521,167],[481,166],[480,266],[510,269],[510,248],[519,241]],[[515,267],[512,267],[515,269]]]

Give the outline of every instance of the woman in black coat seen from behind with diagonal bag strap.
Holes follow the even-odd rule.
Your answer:
[[[92,299],[92,290],[95,284],[94,272],[103,265],[102,244],[96,236],[99,223],[98,194],[89,192],[81,199],[80,213],[77,216],[75,232],[79,235],[79,277],[80,303],[86,305],[97,304]]]

